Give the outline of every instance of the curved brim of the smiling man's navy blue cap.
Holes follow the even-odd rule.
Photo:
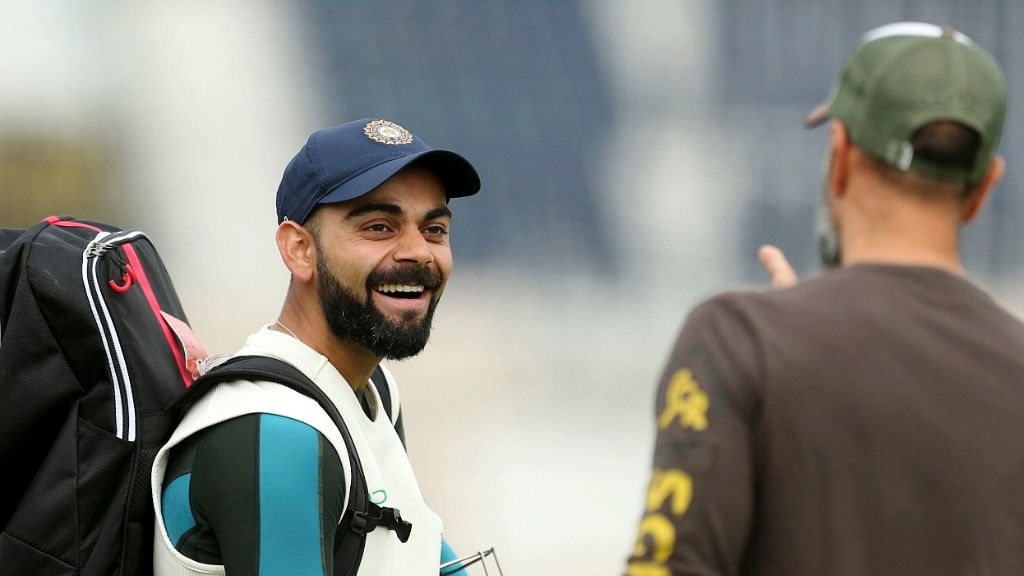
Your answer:
[[[374,166],[335,187],[325,194],[317,204],[334,204],[358,198],[414,162],[419,162],[440,178],[449,199],[472,196],[480,190],[480,176],[468,160],[447,150],[426,150]]]

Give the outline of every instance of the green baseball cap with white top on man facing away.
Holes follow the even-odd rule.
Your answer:
[[[805,125],[841,120],[858,148],[899,170],[973,184],[995,155],[1006,113],[1007,80],[992,56],[953,30],[898,23],[864,36],[831,99],[811,111]],[[971,167],[913,157],[914,133],[938,121],[978,133]]]

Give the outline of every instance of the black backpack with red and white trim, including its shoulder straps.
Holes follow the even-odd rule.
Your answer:
[[[216,382],[290,385],[316,399],[351,445],[323,392],[284,363],[238,361],[186,395],[196,369],[182,331],[184,311],[143,233],[55,216],[0,230],[0,576],[151,574],[154,457]],[[374,384],[390,416],[381,376]],[[354,567],[367,532],[382,525],[408,538],[410,526],[376,508],[352,469],[336,561]]]

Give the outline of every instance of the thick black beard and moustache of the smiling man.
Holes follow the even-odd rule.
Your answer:
[[[422,266],[374,271],[367,279],[364,302],[341,285],[322,254],[319,251],[316,253],[321,310],[335,336],[355,342],[375,356],[389,360],[416,356],[427,345],[437,297],[431,299],[423,320],[417,320],[416,313],[410,312],[399,322],[394,322],[374,304],[371,290],[381,284],[422,284],[424,289],[436,289],[440,286],[437,276]]]

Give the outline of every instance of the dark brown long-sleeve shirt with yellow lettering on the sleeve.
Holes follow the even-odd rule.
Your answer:
[[[1024,574],[1024,325],[858,264],[690,315],[629,576]]]

